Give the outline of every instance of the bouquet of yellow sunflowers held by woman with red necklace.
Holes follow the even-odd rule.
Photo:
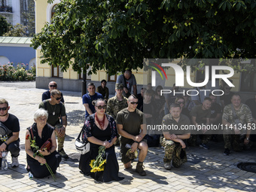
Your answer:
[[[102,172],[104,171],[104,164],[106,163],[105,159],[105,147],[100,146],[98,156],[96,157],[96,160],[90,161],[90,167],[92,168],[90,172]]]

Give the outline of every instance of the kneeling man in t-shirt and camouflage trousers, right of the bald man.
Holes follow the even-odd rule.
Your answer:
[[[173,103],[170,106],[170,114],[166,114],[163,117],[162,126],[164,125],[174,125],[177,126],[176,130],[163,130],[164,138],[161,139],[161,145],[164,148],[163,166],[164,169],[172,169],[172,165],[175,167],[180,167],[183,163],[187,162],[187,155],[184,148],[186,148],[185,143],[182,139],[190,138],[189,130],[181,130],[181,125],[189,125],[189,118],[181,114],[181,106],[177,103]]]

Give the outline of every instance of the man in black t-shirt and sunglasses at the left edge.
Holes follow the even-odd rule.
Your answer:
[[[5,135],[0,135],[0,157],[3,151],[11,152],[11,166],[19,166],[18,156],[20,155],[20,123],[14,114],[9,114],[10,106],[8,101],[0,99],[0,126],[1,130],[8,130]]]

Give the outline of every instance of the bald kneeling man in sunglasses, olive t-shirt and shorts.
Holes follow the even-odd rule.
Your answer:
[[[121,136],[120,139],[120,153],[124,168],[129,169],[131,166],[131,159],[126,156],[129,150],[126,144],[131,145],[131,152],[135,152],[139,148],[139,162],[136,166],[136,172],[139,175],[147,175],[143,169],[143,161],[148,154],[148,145],[142,140],[145,136],[143,130],[146,129],[145,117],[142,111],[137,109],[138,99],[136,96],[131,95],[128,98],[128,108],[117,113],[117,130]]]

